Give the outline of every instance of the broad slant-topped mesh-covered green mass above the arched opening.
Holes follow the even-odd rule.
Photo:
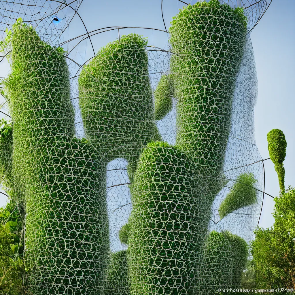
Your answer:
[[[160,140],[146,43],[136,34],[109,43],[84,67],[78,81],[86,138],[108,160],[125,158],[129,168],[133,165],[131,174],[141,149]]]

